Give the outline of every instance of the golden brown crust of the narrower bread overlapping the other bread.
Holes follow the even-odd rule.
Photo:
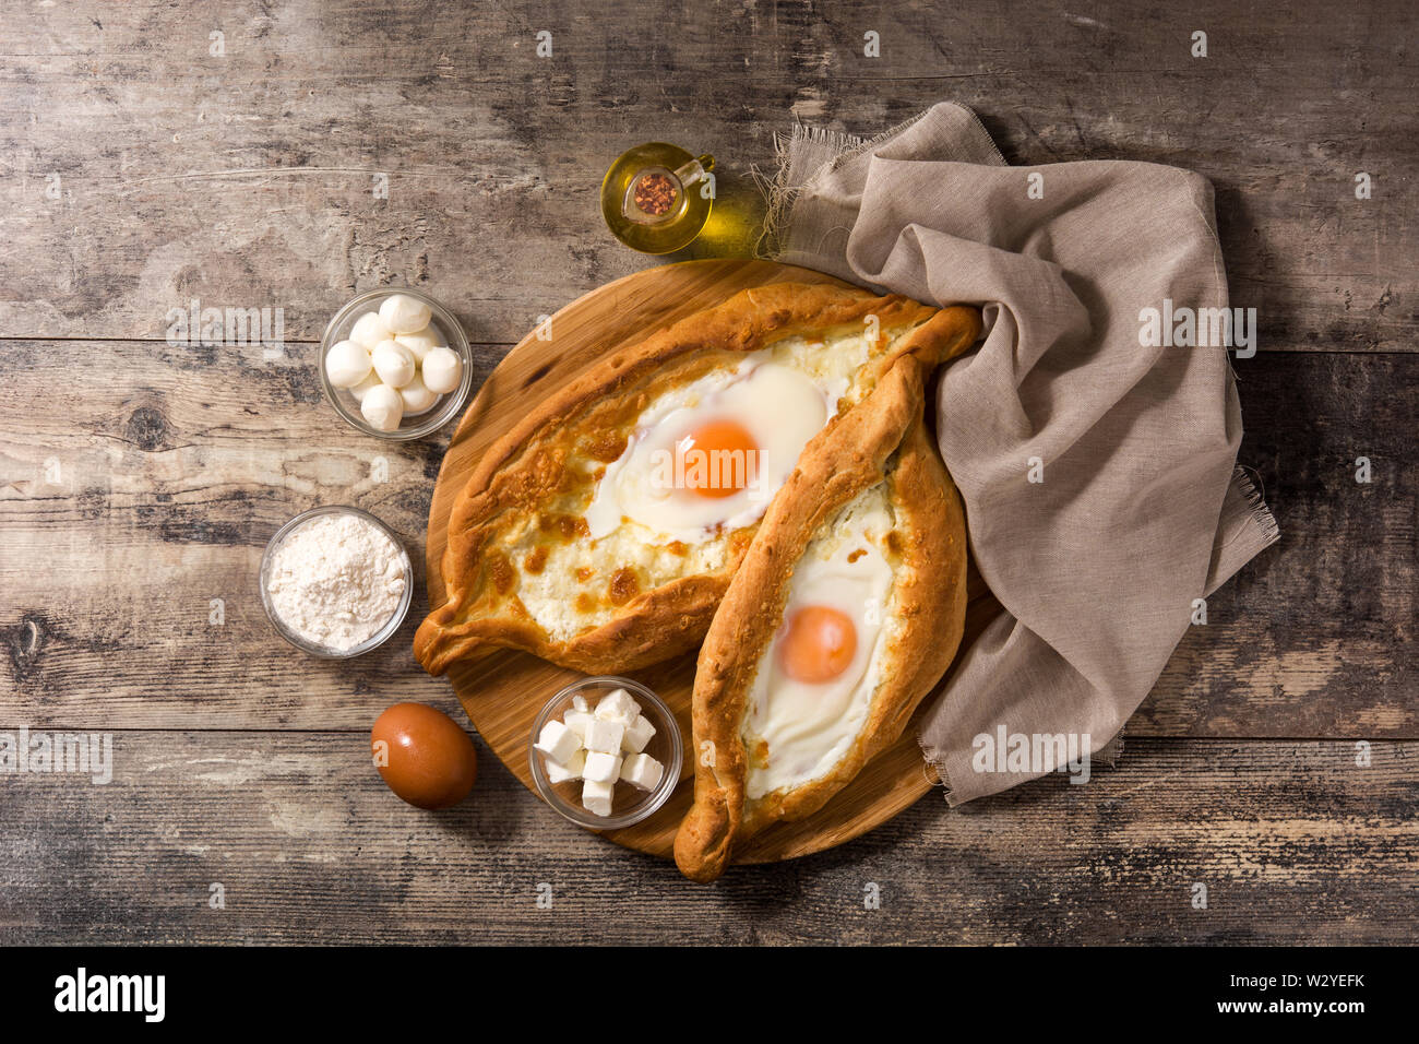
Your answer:
[[[830,437],[805,452],[705,635],[692,707],[695,801],[675,837],[675,862],[692,881],[719,876],[735,845],[769,822],[822,808],[901,736],[955,656],[966,604],[965,516],[922,419],[928,374],[915,358],[900,359]],[[863,730],[832,773],[749,800],[741,722],[755,670],[782,619],[793,568],[824,523],[884,480],[900,534],[894,605],[904,626],[891,662],[901,669],[883,680]]]

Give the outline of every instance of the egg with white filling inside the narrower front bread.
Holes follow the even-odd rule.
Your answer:
[[[751,800],[827,774],[863,730],[891,615],[894,572],[884,554],[891,528],[885,486],[874,486],[795,567],[783,622],[745,702]]]

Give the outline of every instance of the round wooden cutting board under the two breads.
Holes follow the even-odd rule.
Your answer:
[[[553,389],[603,357],[634,344],[691,312],[718,304],[735,291],[769,283],[833,283],[830,276],[771,261],[683,261],[627,276],[593,290],[552,317],[551,339],[536,331],[522,339],[468,406],[454,433],[434,484],[429,513],[429,602],[444,599],[440,571],[448,514],[481,455],[514,423],[536,409]],[[975,609],[975,605],[972,605]],[[968,621],[968,631],[971,621]],[[651,818],[603,837],[650,855],[671,858],[675,830],[692,797],[694,761],[690,750],[690,693],[694,656],[683,656],[630,678],[657,692],[675,712],[684,733],[684,770],[671,800]],[[532,788],[528,740],[542,705],[579,675],[528,653],[497,651],[448,672],[454,692],[492,753]],[[738,862],[772,862],[807,855],[849,841],[917,801],[937,783],[921,758],[915,729],[908,727],[891,749],[826,808],[797,822],[780,822],[751,839]],[[548,812],[555,815],[555,812]]]

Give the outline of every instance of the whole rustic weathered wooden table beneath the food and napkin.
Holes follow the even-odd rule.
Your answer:
[[[1405,0],[7,14],[0,730],[111,733],[114,777],[0,778],[0,942],[1413,942],[1416,30]],[[461,720],[409,651],[423,589],[409,634],[346,665],[275,639],[255,589],[314,504],[423,544],[447,436],[346,429],[316,382],[328,317],[419,286],[491,368],[657,263],[597,214],[622,149],[712,152],[735,220],[684,256],[742,254],[775,132],[870,135],[938,99],[1016,163],[1202,172],[1233,303],[1260,312],[1242,460],[1283,540],[1210,599],[1118,767],[928,797],[712,889],[561,822],[488,756],[457,810],[393,800],[375,716]],[[170,344],[193,301],[282,310],[284,352]]]

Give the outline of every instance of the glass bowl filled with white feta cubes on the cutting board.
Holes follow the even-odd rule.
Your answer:
[[[648,818],[680,783],[680,726],[656,693],[614,675],[583,678],[532,724],[532,781],[552,808],[590,830]]]

